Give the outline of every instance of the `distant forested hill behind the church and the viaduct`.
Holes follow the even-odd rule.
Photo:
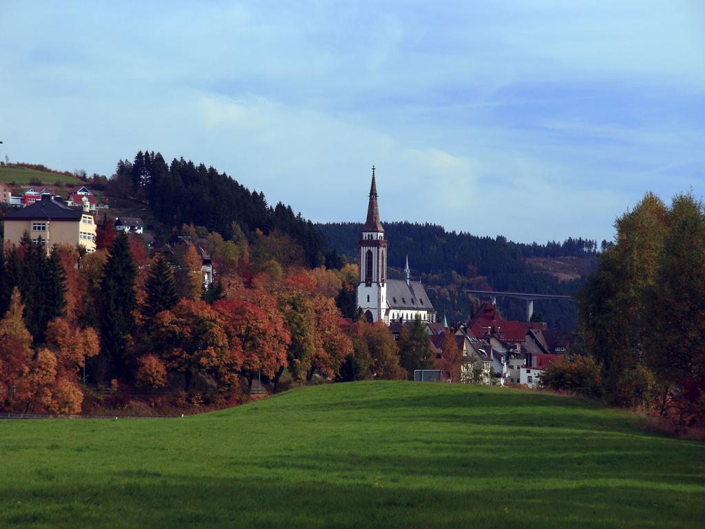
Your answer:
[[[535,267],[527,257],[570,257],[594,260],[596,241],[568,239],[564,243],[525,245],[507,241],[498,236],[479,237],[470,233],[446,231],[434,224],[388,222],[384,231],[389,241],[388,265],[390,276],[399,274],[405,258],[415,279],[422,279],[439,314],[448,313],[448,320],[467,319],[469,300],[462,288],[491,288],[494,291],[519,291],[545,294],[572,294],[582,286],[583,279],[559,281],[558,277]],[[357,241],[362,224],[317,224],[328,248],[357,262]],[[607,243],[603,243],[603,247]],[[396,271],[394,269],[397,269]],[[517,300],[499,300],[506,317],[522,319],[525,303]],[[575,327],[575,307],[565,302],[537,302],[534,310],[540,312],[549,326],[559,329]]]

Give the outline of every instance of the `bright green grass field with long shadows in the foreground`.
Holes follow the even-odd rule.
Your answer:
[[[701,527],[705,445],[639,425],[411,382],[178,419],[3,420],[0,527]]]

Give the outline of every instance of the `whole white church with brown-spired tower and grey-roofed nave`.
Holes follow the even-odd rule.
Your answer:
[[[409,258],[404,272],[406,279],[387,279],[388,241],[379,221],[377,186],[372,167],[372,185],[369,188],[367,221],[362,226],[360,248],[360,283],[357,285],[357,306],[368,322],[387,325],[420,317],[423,322],[435,322],[436,310],[426,296],[420,281],[411,280]]]

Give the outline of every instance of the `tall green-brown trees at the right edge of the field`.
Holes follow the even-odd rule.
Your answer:
[[[615,223],[615,245],[577,294],[582,343],[544,384],[705,421],[705,208],[647,193]]]

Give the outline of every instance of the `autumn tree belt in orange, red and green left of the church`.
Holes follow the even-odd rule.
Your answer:
[[[61,245],[47,255],[28,236],[6,246],[0,409],[129,408],[135,391],[159,395],[159,406],[220,407],[241,401],[258,376],[276,391],[407,378],[427,360],[424,333],[397,343],[384,324],[342,324],[336,298],[356,284],[356,265],[311,269],[281,231],[253,242],[238,229],[200,241],[196,232],[202,227],[182,226],[173,254],[152,257],[140,236],[118,234],[110,221],[99,226],[94,253]],[[214,262],[208,288],[196,243]],[[99,396],[101,387],[112,393]]]

